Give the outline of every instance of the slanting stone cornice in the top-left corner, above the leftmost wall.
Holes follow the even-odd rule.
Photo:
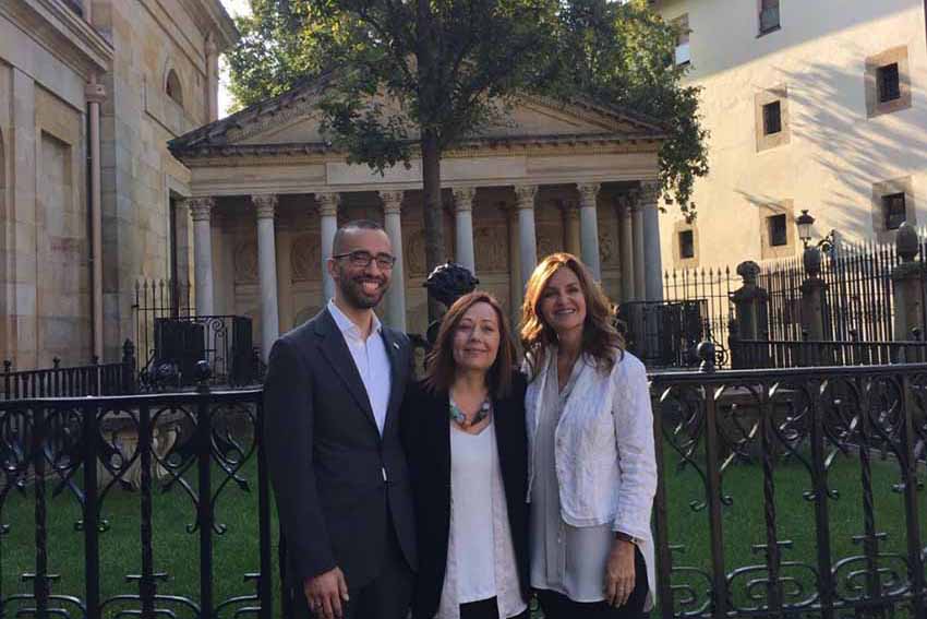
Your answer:
[[[0,14],[84,75],[112,66],[112,45],[62,0],[0,2]]]

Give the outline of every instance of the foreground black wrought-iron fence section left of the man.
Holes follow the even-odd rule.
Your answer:
[[[0,427],[27,429],[0,433],[0,616],[279,616],[261,405],[260,390],[0,403]]]

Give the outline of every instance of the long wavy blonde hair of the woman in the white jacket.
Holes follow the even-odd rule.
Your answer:
[[[586,322],[582,324],[582,354],[594,359],[599,371],[609,373],[618,355],[624,354],[625,343],[615,329],[615,306],[592,278],[589,269],[571,253],[552,253],[541,261],[531,273],[521,306],[521,346],[528,362],[529,379],[540,372],[539,364],[545,349],[557,343],[557,334],[541,314],[541,299],[547,282],[561,269],[569,269],[579,279],[586,298]]]

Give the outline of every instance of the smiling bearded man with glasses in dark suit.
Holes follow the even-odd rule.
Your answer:
[[[409,608],[417,553],[398,416],[411,347],[373,312],[394,262],[378,224],[340,228],[335,298],[270,350],[264,449],[298,616],[404,619]]]

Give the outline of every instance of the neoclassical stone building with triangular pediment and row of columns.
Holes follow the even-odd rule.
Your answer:
[[[399,260],[384,320],[423,332],[420,162],[380,175],[320,131],[316,88],[298,87],[169,144],[190,169],[198,314],[254,319],[266,355],[333,294],[338,224],[382,222]],[[660,298],[658,123],[621,109],[523,96],[442,160],[448,260],[515,312],[539,258],[567,250],[615,300]]]

